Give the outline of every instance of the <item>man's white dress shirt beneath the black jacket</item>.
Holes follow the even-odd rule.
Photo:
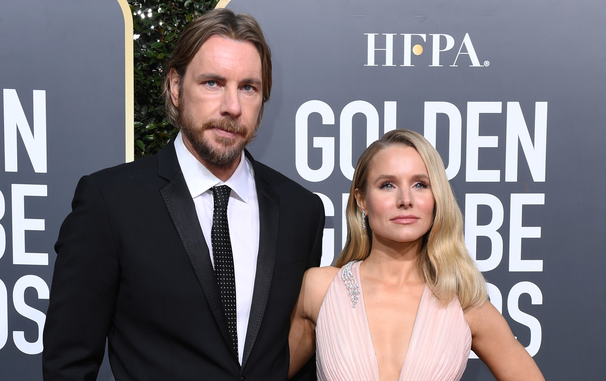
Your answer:
[[[196,205],[196,213],[206,239],[213,267],[215,266],[215,260],[213,259],[210,233],[213,227],[215,207],[211,188],[216,185],[227,185],[231,188],[227,204],[227,221],[236,278],[238,360],[242,363],[250,304],[253,299],[253,288],[255,287],[257,254],[259,252],[259,201],[257,199],[253,166],[242,152],[238,168],[227,181],[222,182],[187,150],[182,140],[181,131],[175,138],[175,150],[187,188]]]

